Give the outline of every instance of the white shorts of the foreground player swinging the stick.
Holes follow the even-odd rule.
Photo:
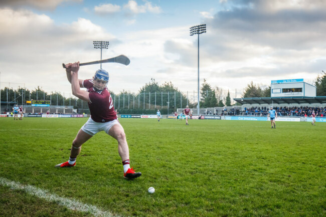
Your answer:
[[[105,131],[107,134],[109,134],[111,127],[118,123],[119,121],[117,119],[109,122],[98,123],[93,121],[93,119],[90,117],[84,126],[82,126],[81,130],[91,136],[94,136],[96,133],[101,131]]]

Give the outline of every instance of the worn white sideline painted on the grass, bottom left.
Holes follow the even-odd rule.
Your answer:
[[[109,211],[103,211],[99,208],[97,208],[95,205],[89,205],[86,203],[79,202],[78,200],[75,199],[68,199],[62,196],[58,196],[57,194],[50,193],[47,190],[43,190],[38,187],[34,187],[32,185],[24,185],[16,181],[11,181],[7,178],[0,177],[0,185],[7,185],[11,189],[20,189],[24,190],[29,194],[32,194],[34,196],[46,199],[51,202],[56,202],[59,205],[64,205],[68,207],[69,209],[72,210],[77,210],[77,211],[84,211],[84,212],[89,212],[95,216],[104,216],[104,217],[117,217],[118,215],[113,215]]]

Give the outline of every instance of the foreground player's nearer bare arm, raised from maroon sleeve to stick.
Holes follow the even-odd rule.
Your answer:
[[[73,63],[70,66],[70,69],[72,71],[71,74],[71,90],[72,94],[76,97],[78,97],[81,100],[85,100],[87,102],[90,102],[89,99],[89,93],[87,91],[80,89],[80,83],[78,80],[78,71],[79,71],[79,62]]]

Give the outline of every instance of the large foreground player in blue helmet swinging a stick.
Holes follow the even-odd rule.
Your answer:
[[[67,79],[71,83],[74,96],[88,102],[91,117],[82,126],[72,142],[69,161],[60,163],[56,167],[68,167],[76,165],[76,158],[81,151],[81,146],[93,135],[100,131],[105,131],[118,141],[118,152],[122,160],[124,177],[137,178],[141,172],[134,172],[130,168],[129,148],[123,127],[117,120],[114,111],[112,97],[106,88],[109,82],[109,74],[105,70],[96,71],[93,79],[78,79],[79,62],[66,65]],[[87,88],[87,91],[81,90]]]

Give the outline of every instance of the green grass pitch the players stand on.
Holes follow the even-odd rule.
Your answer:
[[[86,121],[1,118],[0,177],[121,216],[326,215],[325,123],[120,118],[131,166],[142,172],[125,180],[117,142],[104,132],[82,146],[75,167],[54,167]],[[13,213],[72,214],[0,186],[0,215]]]

